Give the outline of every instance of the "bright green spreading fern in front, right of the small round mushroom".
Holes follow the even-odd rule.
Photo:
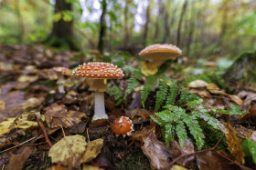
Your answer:
[[[219,112],[220,114],[243,114],[238,111],[239,106],[230,106],[230,111],[208,108],[202,105],[203,100],[197,95],[191,94],[186,89],[181,89],[180,102],[184,105],[165,105],[164,110],[155,113],[156,116],[151,118],[162,127],[162,134],[166,145],[177,136],[179,144],[184,145],[187,141],[187,133],[193,135],[198,149],[201,149],[205,144],[204,134],[199,120],[203,120],[215,129],[219,129],[219,120],[210,115],[211,112]],[[190,108],[187,111],[183,106]],[[188,132],[187,132],[188,129]]]

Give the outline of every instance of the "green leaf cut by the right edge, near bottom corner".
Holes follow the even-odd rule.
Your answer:
[[[251,139],[244,139],[241,144],[243,152],[246,157],[250,157],[254,164],[256,164],[256,143],[254,143]],[[248,159],[246,159],[248,160]]]

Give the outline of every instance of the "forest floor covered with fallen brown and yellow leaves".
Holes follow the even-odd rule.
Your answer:
[[[148,94],[143,107],[140,93],[146,81],[144,76],[133,92],[123,99],[133,75],[124,69],[123,79],[108,81],[111,90],[117,86],[121,89],[117,91],[123,95],[105,94],[109,120],[104,125],[93,125],[94,93],[88,90],[86,80],[59,75],[52,69],[56,66],[74,68],[95,61],[96,57],[100,56],[93,52],[85,57],[71,51],[45,49],[43,45],[0,46],[1,169],[256,169],[255,92],[229,90],[229,87],[218,84],[219,81],[207,82],[207,78],[197,78],[200,76],[186,81],[190,76],[186,73],[193,66],[172,67],[173,71],[165,76],[176,81],[177,96],[184,88],[202,98],[208,107],[223,111],[230,110],[229,104],[235,104],[239,105],[237,112],[244,115],[211,112],[214,120],[219,121],[219,130],[202,120],[205,145],[200,149],[193,132],[187,133],[182,146],[178,140],[182,136],[171,133],[174,140],[166,145],[170,136],[163,137],[166,135],[163,125],[151,118],[155,116],[155,93],[161,86]],[[141,65],[135,57],[120,57],[103,60],[112,60],[119,67],[139,68]],[[214,63],[208,63],[206,69],[214,71],[218,68]],[[59,93],[61,76],[64,93]],[[175,104],[180,105],[180,101],[177,99]],[[192,108],[184,107],[184,111]],[[198,108],[195,107],[195,111]],[[132,135],[112,133],[113,121],[122,115],[132,119]],[[189,126],[184,130],[188,129]]]

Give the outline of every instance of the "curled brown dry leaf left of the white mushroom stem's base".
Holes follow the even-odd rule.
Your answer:
[[[67,128],[80,123],[82,117],[87,118],[87,115],[79,111],[68,111],[65,105],[52,104],[46,108],[45,117],[50,128],[59,125]]]

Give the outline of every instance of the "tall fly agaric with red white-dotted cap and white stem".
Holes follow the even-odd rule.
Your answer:
[[[92,121],[107,119],[108,115],[106,115],[105,111],[104,92],[108,91],[108,87],[104,84],[104,79],[123,78],[121,68],[109,63],[88,63],[78,66],[73,71],[73,75],[94,80],[89,88],[90,91],[95,92],[94,116],[92,117]]]

